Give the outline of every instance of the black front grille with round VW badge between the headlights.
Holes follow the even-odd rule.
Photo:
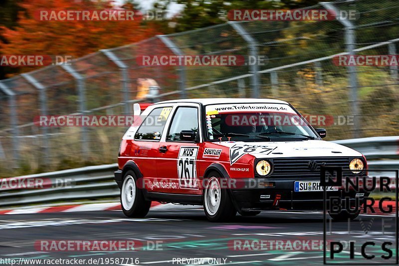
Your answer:
[[[297,157],[297,158],[278,158],[273,159],[273,177],[284,178],[315,178],[320,179],[320,166],[325,163],[326,166],[342,167],[343,174],[352,176],[349,170],[349,157]],[[317,163],[316,170],[309,169],[310,161]]]

